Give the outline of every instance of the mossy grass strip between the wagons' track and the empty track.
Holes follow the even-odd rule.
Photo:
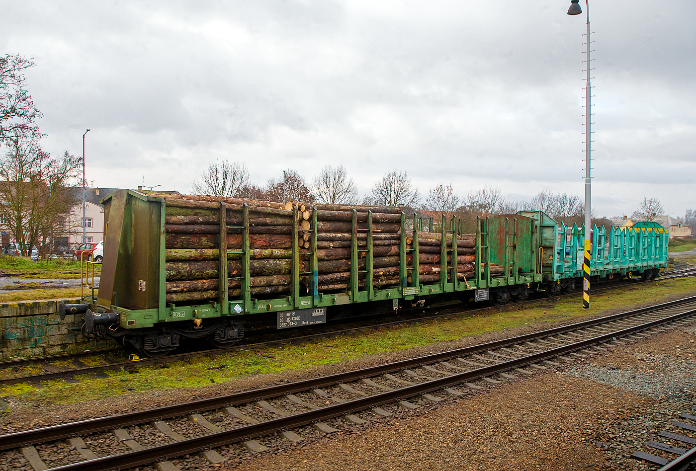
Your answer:
[[[83,378],[80,383],[47,381],[40,386],[27,383],[0,388],[0,397],[14,397],[40,405],[100,399],[129,392],[196,388],[211,383],[235,381],[244,376],[354,360],[374,353],[411,349],[496,330],[562,321],[571,324],[578,317],[598,314],[608,308],[631,310],[646,300],[659,303],[663,296],[696,290],[696,278],[675,278],[662,282],[636,283],[629,287],[592,295],[590,309],[582,308],[579,296],[553,298],[529,305],[507,305],[498,312],[453,315],[450,319],[355,334],[350,337],[319,340],[299,345],[271,346],[262,350],[233,351],[211,358],[195,358],[171,363],[167,367],[147,367],[129,374],[109,372],[108,378]],[[298,334],[301,330],[298,329]],[[191,392],[195,394],[195,392]]]

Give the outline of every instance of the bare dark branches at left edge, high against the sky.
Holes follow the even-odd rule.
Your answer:
[[[24,84],[24,70],[33,65],[18,54],[0,56],[0,141],[38,135],[35,121],[41,118],[41,112],[34,107]]]

